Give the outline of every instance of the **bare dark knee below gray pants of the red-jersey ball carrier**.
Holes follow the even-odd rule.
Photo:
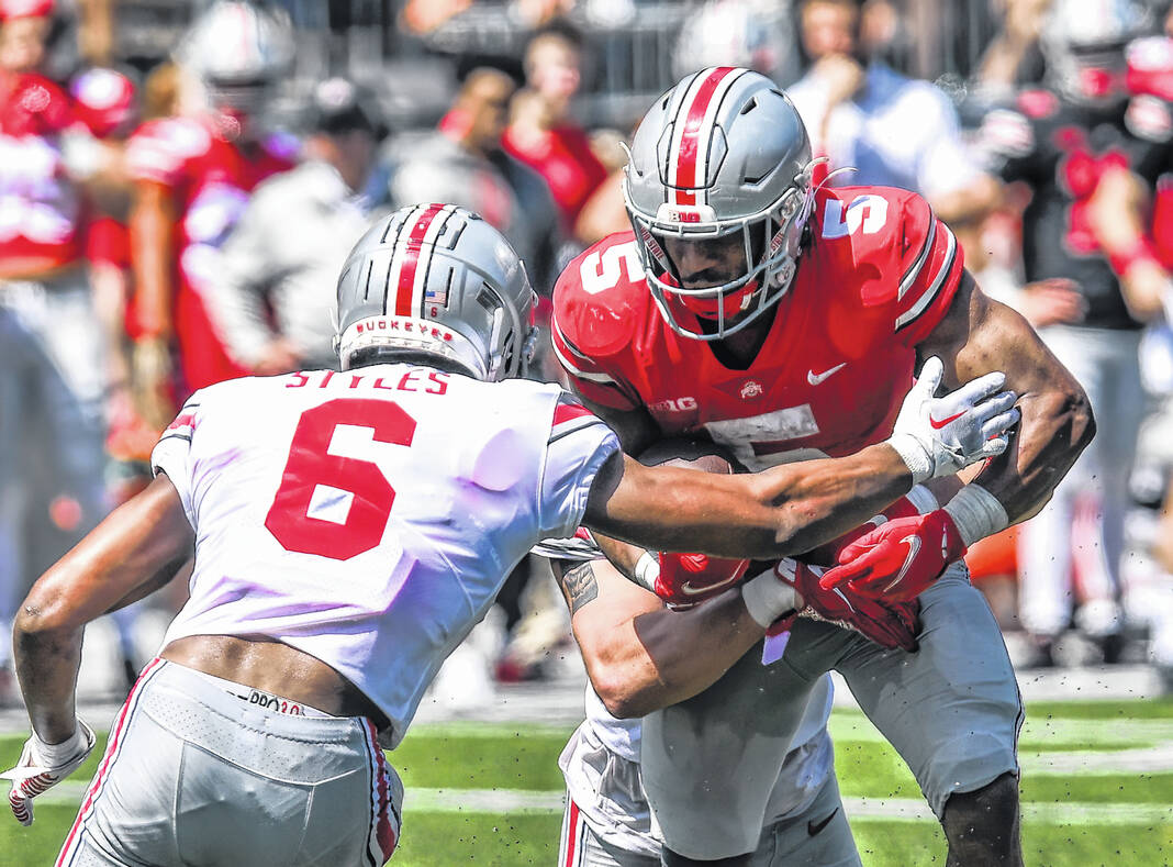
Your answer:
[[[949,865],[1018,865],[1018,778],[1004,773],[974,792],[945,801]]]

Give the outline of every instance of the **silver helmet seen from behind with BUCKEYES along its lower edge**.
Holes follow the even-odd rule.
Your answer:
[[[472,211],[400,208],[371,226],[338,280],[343,368],[443,359],[499,380],[526,372],[535,294],[514,249]]]

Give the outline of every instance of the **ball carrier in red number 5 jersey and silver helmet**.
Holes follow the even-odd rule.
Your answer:
[[[635,231],[585,251],[555,290],[554,345],[589,406],[629,452],[692,432],[752,469],[883,439],[914,372],[940,355],[950,386],[1003,368],[1022,425],[943,514],[902,537],[906,575],[928,584],[918,652],[801,617],[779,664],[730,675],[760,697],[752,717],[703,693],[645,718],[664,858],[747,858],[788,743],[777,707],[836,669],[916,775],[950,863],[1019,863],[1022,704],[994,617],[948,558],[1037,509],[1094,424],[1030,326],[976,287],[924,199],[814,189],[812,168],[800,118],[761,75],[704,69],[656,101],[624,181]],[[628,570],[640,556],[606,550]]]

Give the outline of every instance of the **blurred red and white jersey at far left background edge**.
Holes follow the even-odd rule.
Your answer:
[[[0,103],[0,258],[67,265],[81,255],[80,199],[60,147],[73,122],[69,100],[33,73],[4,83],[11,89]]]

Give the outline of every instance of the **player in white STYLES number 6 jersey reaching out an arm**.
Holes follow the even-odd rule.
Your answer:
[[[33,797],[94,746],[75,712],[84,625],[194,556],[190,600],[117,716],[57,865],[384,863],[402,786],[380,745],[404,738],[540,539],[585,524],[777,558],[906,494],[906,461],[951,474],[1004,449],[1017,419],[990,374],[941,399],[915,386],[893,440],[846,458],[759,475],[642,467],[558,386],[514,378],[533,300],[487,223],[405,208],[344,267],[341,372],[191,397],[152,483],[36,582],[15,623],[33,734],[4,775],[29,824]],[[754,641],[801,604],[772,573],[734,602],[730,628]]]

